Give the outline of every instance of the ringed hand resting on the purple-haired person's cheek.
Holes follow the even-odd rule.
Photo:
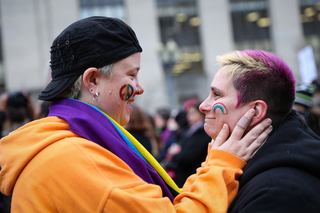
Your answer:
[[[229,126],[224,124],[216,139],[211,142],[212,149],[221,149],[240,157],[244,161],[249,161],[272,131],[271,119],[266,118],[243,137],[254,114],[255,110],[248,110],[238,121],[230,137]]]

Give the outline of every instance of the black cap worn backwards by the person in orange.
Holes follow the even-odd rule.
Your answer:
[[[67,27],[51,46],[52,80],[38,99],[54,100],[90,67],[101,68],[142,52],[134,31],[116,18],[93,16]]]

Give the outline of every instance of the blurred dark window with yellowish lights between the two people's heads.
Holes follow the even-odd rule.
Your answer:
[[[159,53],[173,76],[202,73],[196,0],[157,0],[161,31]]]

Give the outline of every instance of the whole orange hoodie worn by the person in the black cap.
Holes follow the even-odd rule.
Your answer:
[[[120,158],[48,117],[26,124],[0,142],[0,190],[12,212],[226,212],[245,162],[208,149],[174,204]]]

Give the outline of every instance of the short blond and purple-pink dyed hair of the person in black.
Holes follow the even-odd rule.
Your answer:
[[[278,56],[262,50],[234,51],[217,60],[238,92],[237,107],[255,100],[268,105],[267,116],[274,122],[287,116],[295,100],[295,78]]]

